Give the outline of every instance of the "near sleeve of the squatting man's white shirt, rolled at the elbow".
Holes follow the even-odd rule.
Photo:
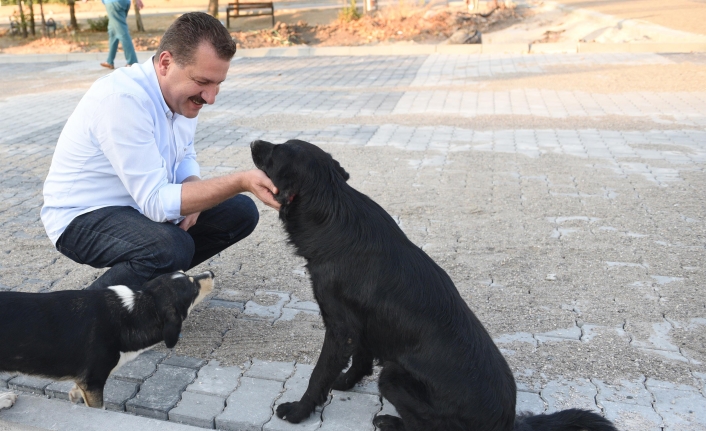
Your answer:
[[[181,184],[169,183],[147,107],[130,94],[112,94],[93,120],[92,135],[142,213],[156,222],[178,219]]]

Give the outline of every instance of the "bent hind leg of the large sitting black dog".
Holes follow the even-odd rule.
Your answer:
[[[378,415],[373,419],[380,431],[449,431],[442,426],[429,404],[425,385],[394,362],[385,362],[378,382],[380,394],[392,403],[401,418]]]

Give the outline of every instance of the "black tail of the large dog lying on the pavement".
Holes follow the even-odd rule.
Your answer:
[[[514,431],[618,431],[608,419],[588,410],[569,409],[549,415],[522,413]]]

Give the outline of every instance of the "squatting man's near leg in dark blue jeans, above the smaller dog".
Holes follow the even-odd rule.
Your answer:
[[[158,275],[188,269],[194,257],[189,234],[131,207],[106,207],[76,217],[56,248],[78,263],[111,267],[88,289],[140,286]]]

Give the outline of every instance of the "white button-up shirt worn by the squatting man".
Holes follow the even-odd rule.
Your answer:
[[[66,122],[44,182],[52,242],[77,216],[107,206],[179,222],[181,182],[200,176],[195,131],[195,118],[164,101],[152,59],[97,80]]]

